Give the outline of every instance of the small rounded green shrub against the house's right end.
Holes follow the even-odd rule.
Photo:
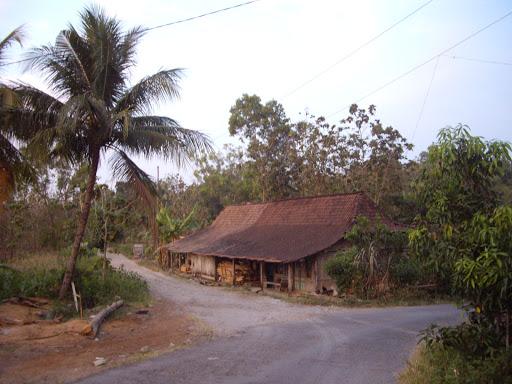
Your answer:
[[[338,292],[353,288],[354,282],[360,278],[354,264],[357,249],[350,248],[339,252],[325,263],[325,271],[336,281]]]

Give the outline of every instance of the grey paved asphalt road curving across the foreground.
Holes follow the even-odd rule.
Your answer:
[[[319,311],[305,319],[239,327],[230,336],[79,383],[394,383],[418,331],[461,319],[451,305]]]

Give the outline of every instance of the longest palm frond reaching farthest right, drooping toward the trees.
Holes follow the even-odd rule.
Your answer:
[[[134,117],[127,131],[115,132],[116,145],[146,157],[162,156],[182,165],[212,149],[210,138],[182,128],[175,120],[162,116]]]

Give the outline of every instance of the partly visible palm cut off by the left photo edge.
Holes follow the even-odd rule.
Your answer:
[[[21,46],[23,38],[23,28],[18,27],[0,41],[0,69],[5,65],[7,49],[15,43]],[[0,211],[14,190],[16,181],[27,180],[32,176],[30,165],[11,142],[13,138],[21,139],[23,135],[10,130],[6,122],[5,110],[15,102],[16,95],[12,89],[0,81]]]

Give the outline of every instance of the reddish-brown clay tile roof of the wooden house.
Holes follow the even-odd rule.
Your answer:
[[[372,219],[376,215],[377,208],[363,193],[231,205],[209,227],[167,247],[180,253],[290,262],[338,242],[357,216]]]

